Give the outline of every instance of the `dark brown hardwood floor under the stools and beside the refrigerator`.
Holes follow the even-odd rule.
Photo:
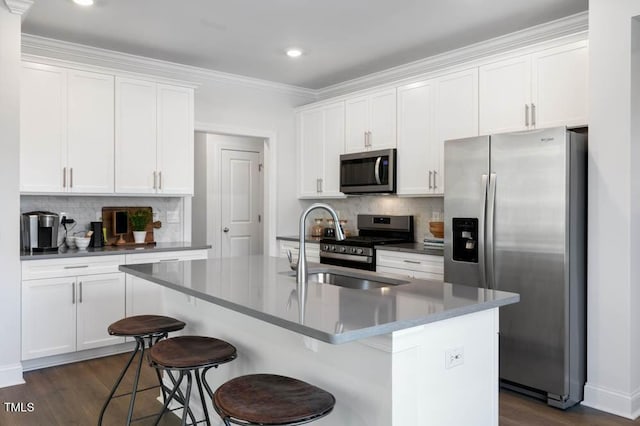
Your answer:
[[[104,398],[126,362],[126,357],[126,354],[116,355],[25,373],[26,384],[0,389],[0,425],[95,425]],[[142,385],[149,386],[154,383],[154,379],[153,371],[146,367],[141,379]],[[130,374],[123,385],[130,389],[132,380]],[[141,393],[136,402],[136,413],[142,415],[157,412],[160,409],[157,395],[157,390]],[[34,410],[25,413],[9,412],[5,402],[32,402]],[[112,402],[105,415],[104,425],[124,424],[127,404],[126,398]],[[147,419],[136,425],[151,425],[153,421],[154,419]],[[164,426],[178,424],[178,418],[173,415],[164,416],[161,422]],[[548,407],[542,401],[503,390],[500,392],[500,425],[618,426],[640,425],[640,421],[634,422],[583,406],[561,411]]]

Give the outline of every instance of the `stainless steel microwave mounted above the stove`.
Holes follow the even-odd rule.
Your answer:
[[[341,155],[340,191],[345,194],[394,194],[395,148]]]

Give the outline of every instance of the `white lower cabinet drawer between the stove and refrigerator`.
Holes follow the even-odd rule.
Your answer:
[[[418,279],[442,280],[444,278],[444,257],[401,251],[376,250],[376,272],[386,272]]]

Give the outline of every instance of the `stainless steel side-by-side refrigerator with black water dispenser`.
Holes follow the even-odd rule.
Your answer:
[[[447,282],[506,290],[501,385],[567,408],[586,377],[586,135],[445,142]]]

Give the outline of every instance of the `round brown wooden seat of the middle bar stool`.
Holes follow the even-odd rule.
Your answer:
[[[236,358],[236,348],[224,340],[178,336],[162,340],[149,350],[151,361],[164,368],[197,368]]]

